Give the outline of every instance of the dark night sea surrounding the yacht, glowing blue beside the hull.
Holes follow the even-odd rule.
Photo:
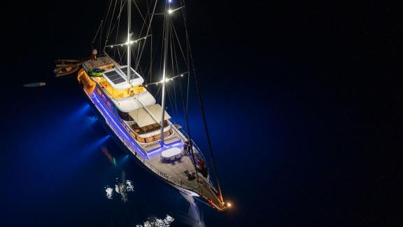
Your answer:
[[[114,177],[100,151],[71,164],[79,123],[64,116],[85,98],[74,76],[54,78],[53,61],[89,57],[106,2],[2,8],[0,226],[136,226],[164,214],[186,224],[184,199],[136,163],[125,171],[141,186],[125,205],[103,194]],[[218,174],[234,204],[223,214],[199,205],[206,226],[402,226],[403,8],[186,3]],[[47,85],[22,88],[37,81]],[[94,128],[80,137],[106,135]]]

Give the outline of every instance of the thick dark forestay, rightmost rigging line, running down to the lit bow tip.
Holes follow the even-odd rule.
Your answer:
[[[185,9],[183,9],[183,11],[185,11]],[[188,26],[186,25],[186,20],[185,20],[185,31],[188,37]],[[217,183],[217,187],[218,187],[218,193],[220,194],[219,198],[221,202],[224,202],[222,200],[222,191],[221,191],[221,186],[220,186],[220,180],[218,179],[218,172],[217,169],[215,167],[215,162],[214,162],[214,156],[213,156],[213,147],[211,146],[211,139],[210,139],[210,135],[208,133],[208,127],[207,127],[207,121],[206,121],[206,114],[204,112],[204,106],[203,106],[203,101],[201,99],[201,92],[200,92],[200,88],[199,88],[199,83],[197,83],[197,77],[196,77],[196,72],[195,72],[195,62],[193,61],[193,56],[192,56],[192,52],[190,49],[190,42],[188,39],[188,48],[190,51],[190,63],[192,64],[192,70],[193,70],[193,78],[195,78],[195,85],[196,85],[196,92],[197,92],[197,97],[199,97],[199,106],[201,109],[201,116],[203,117],[203,124],[204,124],[204,130],[206,131],[206,138],[207,138],[207,143],[208,143],[208,149],[210,150],[210,158],[211,158],[211,163],[213,164],[213,170],[214,170],[214,175],[215,175],[215,181]]]

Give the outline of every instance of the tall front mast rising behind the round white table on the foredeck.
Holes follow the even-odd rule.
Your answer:
[[[164,145],[164,115],[165,115],[165,83],[166,83],[166,76],[167,76],[167,60],[168,60],[168,36],[169,36],[169,0],[166,0],[165,3],[165,34],[164,34],[164,68],[162,69],[162,113],[161,113],[161,145]]]

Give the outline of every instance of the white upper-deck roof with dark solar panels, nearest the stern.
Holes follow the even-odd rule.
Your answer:
[[[132,68],[131,68],[132,69]],[[134,69],[130,70],[130,83],[127,82],[127,65],[122,67],[115,67],[102,74],[106,81],[112,85],[113,88],[119,90],[129,89],[132,86],[141,85],[144,82],[143,77],[140,76]]]

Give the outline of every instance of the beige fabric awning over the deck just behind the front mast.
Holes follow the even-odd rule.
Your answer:
[[[148,111],[145,108],[147,108]],[[155,119],[148,112],[150,112],[150,114],[153,114],[153,116],[157,118],[158,121],[155,121]],[[136,121],[137,125],[139,125],[140,128],[143,128],[147,125],[153,125],[155,123],[159,124],[161,121],[161,114],[162,107],[160,106],[160,104],[153,104],[129,112],[129,116],[131,116],[133,120]],[[167,111],[165,111],[164,120],[168,120],[170,118],[171,116],[169,116]]]

